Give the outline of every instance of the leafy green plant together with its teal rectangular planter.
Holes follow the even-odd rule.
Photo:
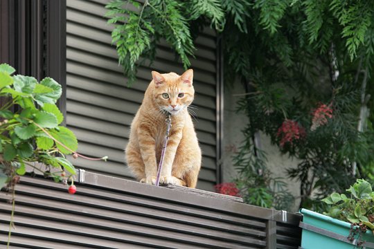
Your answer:
[[[302,209],[302,248],[374,248],[374,192],[362,179],[346,194],[332,193],[322,201],[328,212]]]

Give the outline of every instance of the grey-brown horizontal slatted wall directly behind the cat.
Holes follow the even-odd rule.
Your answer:
[[[107,0],[109,1],[109,0]],[[107,163],[73,160],[76,167],[130,178],[123,149],[132,118],[150,80],[150,71],[182,73],[175,54],[162,42],[152,68],[141,67],[138,80],[127,88],[111,46],[112,27],[107,25],[103,0],[67,0],[66,12],[66,124],[78,137],[78,151],[87,156],[109,156]],[[194,69],[197,113],[195,127],[203,151],[197,187],[213,190],[216,179],[216,45],[215,34],[206,29],[197,38]]]

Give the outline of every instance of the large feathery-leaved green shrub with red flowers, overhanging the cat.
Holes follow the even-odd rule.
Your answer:
[[[225,84],[237,78],[246,89],[239,102],[250,120],[244,143],[262,132],[297,159],[287,174],[301,183],[296,197],[302,207],[323,208],[320,199],[346,190],[356,178],[374,181],[374,113],[368,111],[374,109],[374,1],[195,2],[108,4],[125,75],[135,75],[139,58],[152,62],[163,40],[188,66],[193,38],[210,24],[222,43]],[[127,8],[132,5],[138,7]],[[134,40],[141,30],[148,38]],[[243,148],[249,158],[256,153],[255,147]],[[248,163],[243,180],[260,179],[256,162]],[[262,190],[271,185],[264,181]],[[267,194],[274,195],[261,196]]]

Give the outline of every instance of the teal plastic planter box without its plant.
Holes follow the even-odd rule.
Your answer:
[[[350,242],[347,239],[350,230],[350,223],[339,221],[310,210],[301,209],[300,212],[303,214],[303,222],[300,223],[300,227],[303,228],[301,234],[301,248],[362,248],[355,247],[357,241]],[[373,232],[367,231],[363,236],[363,240],[366,241],[363,248],[374,249]]]

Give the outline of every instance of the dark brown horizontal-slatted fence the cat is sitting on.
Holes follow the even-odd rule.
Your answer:
[[[80,182],[80,183],[79,183]],[[298,248],[301,216],[181,187],[80,172],[78,191],[44,178],[16,187],[11,248]],[[0,192],[0,246],[11,195]]]

